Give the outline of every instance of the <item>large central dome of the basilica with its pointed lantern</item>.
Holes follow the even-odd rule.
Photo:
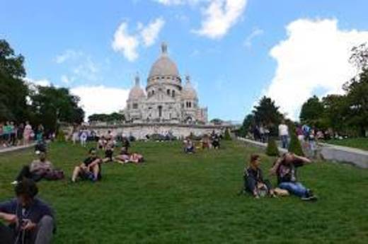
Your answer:
[[[151,71],[149,71],[149,77],[154,76],[179,76],[178,67],[168,57],[167,54],[167,45],[163,43],[161,45],[162,53],[161,57],[154,62],[151,67]]]

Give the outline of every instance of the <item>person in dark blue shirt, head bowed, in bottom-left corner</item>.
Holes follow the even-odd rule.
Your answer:
[[[0,243],[49,244],[56,230],[51,207],[35,196],[38,187],[23,179],[15,187],[16,199],[0,203]]]

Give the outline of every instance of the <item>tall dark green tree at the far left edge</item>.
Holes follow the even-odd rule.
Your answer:
[[[28,117],[28,86],[23,81],[24,57],[16,55],[6,40],[0,40],[0,120]]]

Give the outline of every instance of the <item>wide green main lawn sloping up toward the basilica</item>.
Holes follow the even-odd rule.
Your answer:
[[[178,143],[137,143],[144,165],[103,165],[103,181],[39,184],[57,211],[54,243],[368,243],[368,171],[316,163],[299,177],[318,202],[237,196],[243,166],[257,151],[226,142],[185,155]],[[69,177],[86,149],[52,144],[50,159]],[[32,151],[0,156],[0,201]],[[246,159],[245,159],[246,158]],[[263,168],[273,159],[263,156]],[[275,179],[272,179],[275,182]]]

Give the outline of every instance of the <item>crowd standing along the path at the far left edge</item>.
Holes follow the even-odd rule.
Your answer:
[[[38,124],[34,129],[28,121],[20,124],[13,121],[0,122],[0,149],[27,145],[40,141],[44,136],[45,129],[42,124]]]

